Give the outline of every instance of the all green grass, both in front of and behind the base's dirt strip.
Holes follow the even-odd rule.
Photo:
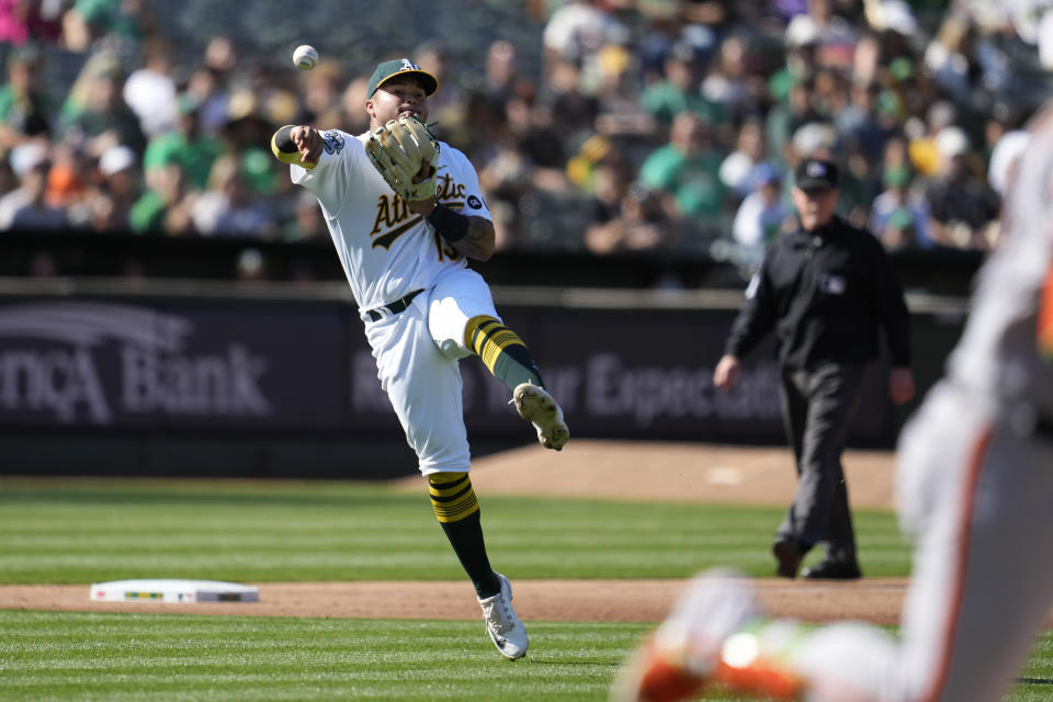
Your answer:
[[[771,570],[780,509],[483,496],[514,578]],[[891,514],[859,512],[868,575],[905,575]],[[463,577],[427,497],[382,485],[0,479],[0,581]],[[604,700],[645,624],[530,622],[501,659],[482,622],[0,611],[0,700]],[[1044,635],[1014,702],[1053,697]]]

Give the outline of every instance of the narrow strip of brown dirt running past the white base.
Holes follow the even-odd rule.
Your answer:
[[[892,624],[899,612],[903,579],[849,584],[754,580],[761,603],[777,615],[805,621],[856,619]],[[516,610],[528,621],[657,622],[683,580],[516,580]],[[479,616],[472,587],[435,582],[264,582],[259,602],[93,602],[87,585],[0,586],[0,609],[75,612],[161,612],[382,619]],[[435,602],[442,602],[437,612]]]

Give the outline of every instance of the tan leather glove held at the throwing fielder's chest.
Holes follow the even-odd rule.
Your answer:
[[[406,202],[434,196],[439,141],[416,117],[392,120],[372,132],[365,141],[365,152],[392,190]],[[429,171],[423,180],[415,183],[424,161]]]

